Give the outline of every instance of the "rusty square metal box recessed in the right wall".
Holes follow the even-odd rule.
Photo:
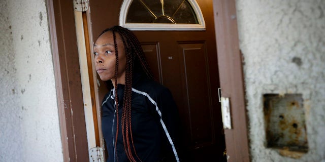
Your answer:
[[[265,94],[264,116],[267,147],[308,151],[305,109],[301,94]]]

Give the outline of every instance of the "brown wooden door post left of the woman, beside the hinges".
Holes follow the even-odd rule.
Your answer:
[[[73,1],[46,1],[63,161],[89,159]]]

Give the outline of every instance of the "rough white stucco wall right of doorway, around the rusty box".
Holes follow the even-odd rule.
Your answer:
[[[325,1],[237,0],[252,161],[325,161]],[[263,94],[304,98],[309,152],[265,147]]]

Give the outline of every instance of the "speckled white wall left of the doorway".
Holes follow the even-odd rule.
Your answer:
[[[44,0],[0,1],[0,161],[63,161]]]

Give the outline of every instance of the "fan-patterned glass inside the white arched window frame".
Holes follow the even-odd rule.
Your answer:
[[[134,0],[128,9],[126,23],[199,24],[186,0]]]

